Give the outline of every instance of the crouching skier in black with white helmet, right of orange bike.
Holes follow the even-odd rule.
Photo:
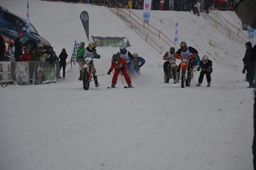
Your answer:
[[[207,87],[211,86],[211,73],[212,73],[212,61],[209,59],[207,55],[204,55],[202,57],[202,60],[199,62],[199,65],[197,67],[197,70],[200,71],[199,79],[198,79],[198,84],[196,86],[201,86],[204,75],[206,74],[206,79],[207,79]]]

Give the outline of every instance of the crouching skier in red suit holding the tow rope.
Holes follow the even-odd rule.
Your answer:
[[[128,88],[132,88],[132,82],[127,73],[127,65],[126,65],[125,58],[120,57],[118,54],[113,54],[112,60],[111,60],[111,66],[108,70],[108,74],[110,75],[110,73],[114,69],[115,69],[115,72],[114,72],[114,75],[112,78],[111,88],[115,88],[117,78],[118,78],[118,75],[120,72],[122,72],[122,75],[124,75],[124,79],[125,79],[126,83],[128,84]]]

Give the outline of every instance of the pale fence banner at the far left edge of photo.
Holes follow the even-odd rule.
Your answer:
[[[11,62],[0,62],[0,83],[12,82]]]

